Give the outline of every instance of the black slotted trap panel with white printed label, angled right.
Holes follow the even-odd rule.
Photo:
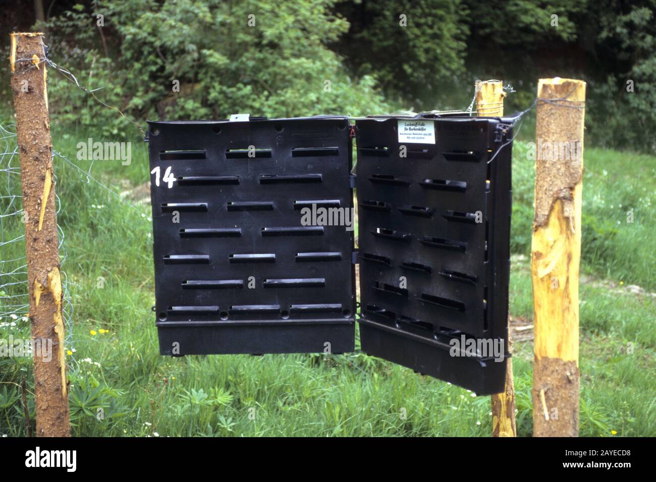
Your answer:
[[[356,122],[362,350],[501,392],[505,356],[452,357],[449,342],[507,339],[512,143],[497,150],[512,132],[426,119],[435,143],[418,144],[400,142],[399,120]]]

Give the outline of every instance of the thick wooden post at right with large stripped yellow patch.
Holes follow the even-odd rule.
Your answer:
[[[533,436],[579,435],[579,264],[585,83],[540,79],[531,245]]]

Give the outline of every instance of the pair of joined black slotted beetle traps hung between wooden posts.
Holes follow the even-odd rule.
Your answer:
[[[358,313],[365,353],[502,392],[514,120],[150,122],[160,353],[343,353]],[[354,189],[358,249],[302,224]]]

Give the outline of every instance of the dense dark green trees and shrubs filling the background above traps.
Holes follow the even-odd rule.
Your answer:
[[[518,90],[512,111],[539,77],[583,78],[587,140],[653,151],[655,11],[656,0],[16,0],[0,35],[44,30],[55,62],[136,119],[462,109],[488,78]],[[51,75],[58,123],[134,135],[66,82]]]

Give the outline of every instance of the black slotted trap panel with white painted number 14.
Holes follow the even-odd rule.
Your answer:
[[[353,233],[300,211],[352,207],[347,119],[150,122],[148,140],[161,353],[353,350]]]

